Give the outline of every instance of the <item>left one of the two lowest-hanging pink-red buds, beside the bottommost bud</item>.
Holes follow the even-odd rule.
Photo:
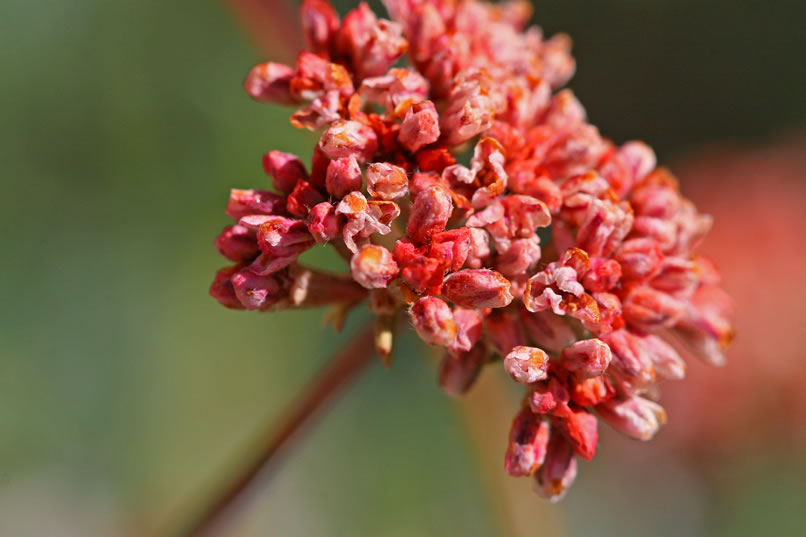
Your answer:
[[[505,468],[513,477],[530,476],[546,458],[549,443],[548,423],[528,407],[521,409],[509,430]]]

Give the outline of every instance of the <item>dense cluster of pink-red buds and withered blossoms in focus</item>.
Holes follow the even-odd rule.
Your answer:
[[[570,39],[526,29],[528,2],[386,6],[393,21],[305,0],[308,50],[247,76],[250,96],[321,135],[310,167],[264,156],[274,191],[232,191],[216,245],[235,265],[211,294],[260,311],[366,299],[384,356],[405,312],[444,348],[451,394],[500,362],[526,391],[506,470],[558,499],[599,419],[642,440],[664,423],[657,383],[685,373],[669,341],[723,361],[730,302],[692,253],[711,220],[649,147],[586,121],[560,90]],[[317,244],[350,274],[301,265]]]

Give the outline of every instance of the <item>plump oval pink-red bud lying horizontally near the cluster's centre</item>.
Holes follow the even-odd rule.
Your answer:
[[[466,269],[445,280],[444,295],[466,308],[503,308],[512,302],[511,284],[494,270]]]

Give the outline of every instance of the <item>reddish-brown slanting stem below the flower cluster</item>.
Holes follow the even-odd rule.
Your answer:
[[[268,432],[259,439],[257,445],[260,448],[249,456],[247,464],[213,496],[189,524],[174,535],[212,537],[216,530],[225,534],[221,522],[235,507],[234,504],[244,498],[257,477],[268,476],[277,469],[281,455],[288,450],[292,441],[299,438],[304,427],[327,401],[357,377],[374,356],[374,349],[374,328],[370,323],[363,326],[311,380],[279,424],[271,424]]]

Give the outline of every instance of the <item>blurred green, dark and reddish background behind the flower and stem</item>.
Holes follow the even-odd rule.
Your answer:
[[[358,326],[335,334],[319,312],[245,314],[207,296],[229,188],[265,185],[268,149],[310,152],[286,110],[240,86],[252,64],[294,53],[295,9],[0,2],[0,535],[181,523]],[[716,216],[704,250],[737,301],[730,364],[691,364],[665,386],[656,441],[604,434],[550,506],[503,474],[517,389],[487,371],[451,400],[404,339],[228,535],[805,534],[806,4],[535,11],[574,37],[571,86],[592,121],[652,144]]]

